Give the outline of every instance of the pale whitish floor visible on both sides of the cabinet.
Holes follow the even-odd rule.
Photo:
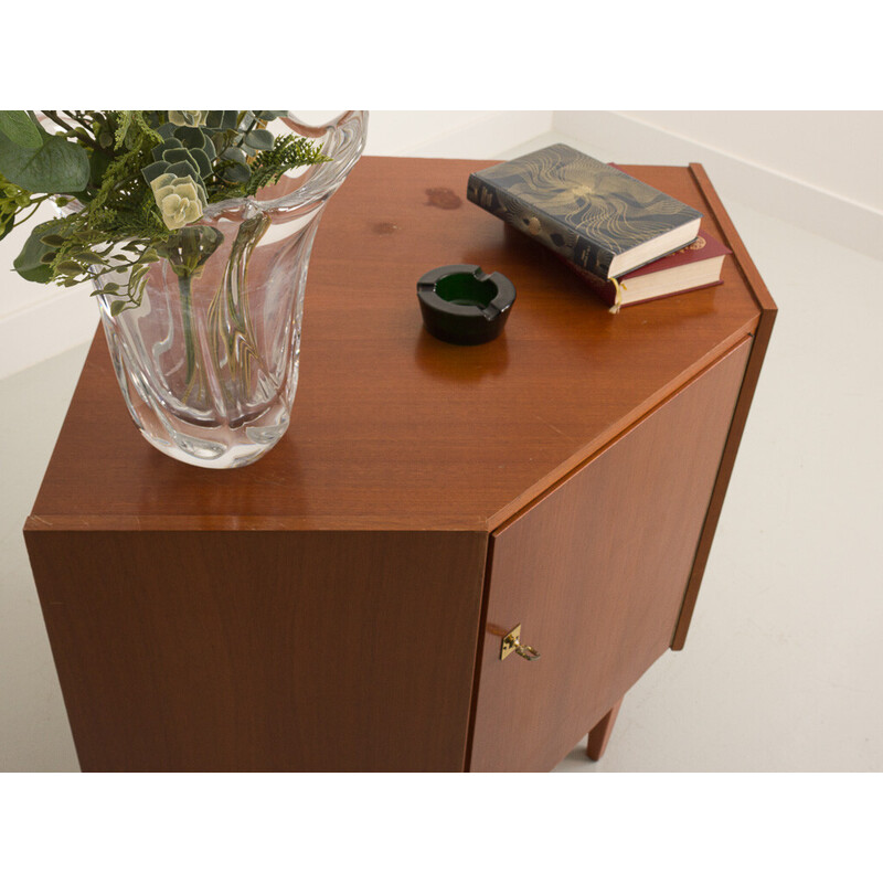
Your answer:
[[[883,262],[726,208],[779,317],[687,648],[556,773],[883,772]],[[85,352],[0,381],[0,770],[77,769],[21,529]]]

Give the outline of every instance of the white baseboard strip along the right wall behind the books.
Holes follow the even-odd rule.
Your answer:
[[[561,140],[578,141],[606,161],[701,162],[724,204],[751,206],[883,259],[883,214],[836,193],[610,110],[556,111],[553,128]]]

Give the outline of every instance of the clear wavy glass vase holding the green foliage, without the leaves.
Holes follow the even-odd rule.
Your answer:
[[[129,413],[163,454],[214,469],[246,466],[285,434],[313,237],[364,149],[366,124],[365,111],[318,127],[279,118],[280,134],[317,139],[331,161],[284,175],[257,199],[209,205],[191,226],[223,238],[199,274],[153,264],[140,306],[117,316],[113,298],[97,296]]]

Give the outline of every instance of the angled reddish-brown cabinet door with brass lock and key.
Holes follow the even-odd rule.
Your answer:
[[[471,770],[551,769],[669,647],[749,348],[491,538]],[[500,659],[519,624],[540,659]]]

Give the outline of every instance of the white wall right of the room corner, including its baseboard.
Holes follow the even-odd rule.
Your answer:
[[[553,126],[598,159],[701,162],[724,204],[883,258],[881,111],[557,111]]]

